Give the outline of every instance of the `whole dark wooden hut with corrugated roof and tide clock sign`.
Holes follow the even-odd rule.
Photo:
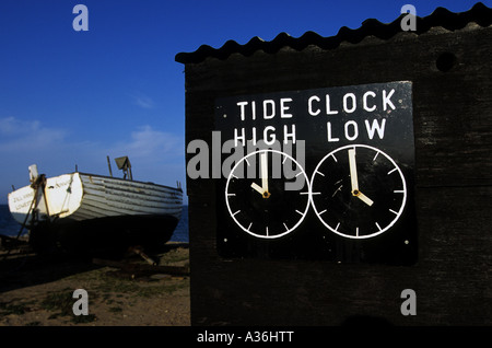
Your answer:
[[[403,19],[176,56],[186,72],[194,325],[492,324],[492,10],[440,8],[418,18],[414,31],[402,30]],[[280,150],[230,159],[248,140],[270,143],[273,135]],[[282,147],[294,137],[300,152]],[[261,176],[241,185],[229,175],[236,162],[261,169],[273,154],[304,170],[296,175],[305,195],[278,200],[280,210],[259,202],[262,218],[249,225],[239,216],[274,193],[261,197]],[[371,206],[354,195],[351,163],[366,171],[364,192],[371,170],[362,162],[384,154],[391,175],[405,178],[406,200],[365,192]],[[343,182],[318,190],[317,173],[337,163]],[[395,177],[388,185],[402,190]],[[340,185],[352,189],[343,196]],[[246,205],[233,207],[234,195]],[[331,195],[348,208],[337,210]],[[391,199],[400,199],[385,207],[396,221],[344,214]]]

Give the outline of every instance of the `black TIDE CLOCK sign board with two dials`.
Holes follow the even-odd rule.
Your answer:
[[[411,82],[225,96],[215,130],[221,256],[417,262]]]

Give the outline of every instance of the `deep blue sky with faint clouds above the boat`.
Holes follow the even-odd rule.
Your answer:
[[[0,204],[27,185],[28,165],[55,176],[119,175],[129,155],[136,179],[185,185],[185,74],[174,60],[200,45],[273,39],[285,32],[336,35],[366,19],[391,22],[403,4],[419,16],[477,1],[0,1]],[[491,1],[482,1],[492,7]],[[77,4],[89,31],[75,32]]]

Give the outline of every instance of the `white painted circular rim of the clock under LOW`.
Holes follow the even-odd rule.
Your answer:
[[[345,234],[345,233],[341,233],[341,232],[339,232],[339,231],[336,231],[336,230],[335,230],[333,228],[331,228],[328,223],[326,223],[325,220],[321,219],[320,214],[318,213],[318,209],[316,208],[316,204],[314,202],[313,192],[309,192],[309,202],[311,202],[311,206],[313,206],[313,209],[314,209],[316,216],[318,217],[318,220],[321,221],[321,223],[323,223],[326,228],[328,228],[328,230],[330,230],[331,232],[333,232],[333,233],[336,233],[336,234],[338,234],[338,235],[341,235],[341,236],[343,236],[343,237],[353,239],[353,240],[364,240],[364,239],[371,239],[371,237],[374,237],[374,236],[379,235],[379,234],[382,234],[382,233],[385,233],[387,230],[389,230],[389,229],[398,221],[398,219],[401,217],[401,213],[403,212],[405,206],[407,205],[407,181],[406,181],[405,175],[403,175],[403,173],[401,172],[399,165],[391,159],[391,156],[390,156],[389,154],[387,154],[386,152],[384,152],[384,151],[380,150],[380,149],[377,149],[377,148],[375,148],[375,147],[367,146],[367,144],[364,144],[364,143],[352,143],[352,144],[348,144],[348,146],[343,146],[343,147],[337,148],[337,149],[335,149],[333,151],[331,151],[331,152],[329,152],[328,154],[326,154],[326,155],[318,162],[318,164],[316,165],[316,169],[315,169],[314,172],[313,172],[313,176],[312,176],[311,182],[309,182],[309,188],[313,189],[313,184],[314,184],[314,179],[315,179],[316,173],[317,173],[319,166],[321,165],[321,163],[325,162],[325,160],[326,160],[327,158],[329,158],[331,154],[333,154],[333,153],[336,153],[336,152],[338,152],[338,151],[341,151],[341,150],[344,150],[344,149],[350,149],[350,148],[356,148],[356,147],[360,147],[360,148],[368,148],[368,149],[372,149],[372,150],[375,150],[375,151],[382,153],[382,154],[385,155],[385,156],[386,156],[386,158],[395,165],[395,167],[397,169],[397,171],[398,171],[398,173],[399,173],[399,175],[400,175],[400,177],[401,177],[401,182],[403,183],[403,199],[401,200],[400,209],[398,210],[398,212],[397,212],[397,214],[396,214],[396,218],[395,218],[388,225],[386,225],[384,229],[382,229],[380,231],[377,231],[377,232],[375,232],[375,233],[365,234],[365,235],[351,235],[351,234]]]

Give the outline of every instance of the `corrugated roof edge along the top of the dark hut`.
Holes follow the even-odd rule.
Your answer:
[[[300,37],[292,37],[286,33],[280,33],[271,42],[266,42],[260,37],[253,37],[247,44],[239,45],[235,40],[226,42],[221,48],[213,48],[208,45],[200,46],[194,53],[177,54],[175,60],[181,63],[197,63],[208,57],[226,59],[232,54],[242,54],[250,56],[255,51],[261,49],[268,54],[274,54],[282,47],[291,47],[302,50],[308,45],[315,45],[324,49],[337,48],[340,43],[349,42],[352,44],[360,43],[364,37],[375,36],[382,39],[388,39],[400,33],[401,19],[406,14],[401,14],[391,23],[382,23],[375,19],[366,20],[359,28],[351,30],[347,26],[340,28],[336,36],[324,37],[315,32],[306,32]],[[417,31],[414,34],[427,32],[431,27],[442,26],[449,31],[464,28],[468,23],[477,23],[480,26],[489,26],[492,24],[492,9],[483,3],[476,3],[466,12],[450,12],[445,8],[437,8],[432,14],[425,18],[417,16]]]

